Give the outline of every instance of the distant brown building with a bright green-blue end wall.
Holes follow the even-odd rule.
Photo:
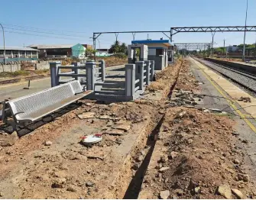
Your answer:
[[[52,58],[52,57],[71,57],[77,56],[78,49],[85,53],[86,48],[92,48],[92,45],[89,44],[59,44],[59,45],[40,45],[32,44],[28,47],[39,50],[39,58]],[[81,56],[81,55],[80,55]]]

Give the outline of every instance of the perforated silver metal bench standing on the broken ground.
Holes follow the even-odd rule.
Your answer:
[[[79,81],[75,80],[31,95],[15,98],[4,103],[2,121],[11,124],[14,130],[17,130],[18,125],[37,121],[53,111],[76,102],[91,92],[84,92]],[[13,120],[8,121],[8,117]]]

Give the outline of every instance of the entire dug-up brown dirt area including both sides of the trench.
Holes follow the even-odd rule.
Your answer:
[[[178,60],[140,100],[82,100],[20,137],[0,131],[0,198],[254,198],[235,121],[194,108],[199,92]],[[89,134],[103,140],[80,144]]]

